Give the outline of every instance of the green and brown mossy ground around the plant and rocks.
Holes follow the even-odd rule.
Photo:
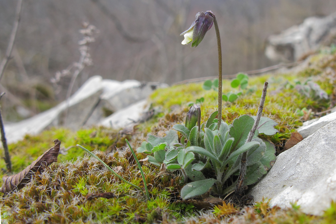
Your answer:
[[[255,115],[261,89],[268,80],[269,88],[264,106],[264,116],[279,124],[280,131],[272,136],[281,151],[290,133],[302,124],[297,109],[307,108],[320,112],[333,105],[336,98],[335,54],[318,54],[309,67],[299,73],[250,77],[251,91],[245,90],[234,103],[223,103],[222,118],[231,123],[242,115]],[[333,71],[333,72],[332,72]],[[295,79],[304,81],[311,77],[330,96],[329,101],[313,100],[302,96],[296,89],[286,88]],[[230,81],[223,81],[223,93],[232,91]],[[124,179],[143,188],[141,174],[134,157],[124,148],[127,138],[133,148],[140,146],[147,134],[164,135],[175,123],[184,123],[188,102],[204,97],[200,104],[202,121],[217,110],[217,92],[203,90],[202,83],[175,85],[159,89],[151,96],[152,106],[160,113],[127,132],[102,127],[81,129],[52,128],[38,136],[26,136],[23,141],[9,145],[13,173],[18,173],[59,139],[61,153],[58,162],[38,173],[26,187],[3,195],[0,199],[2,223],[332,223],[336,220],[336,204],[333,202],[324,216],[306,215],[294,204],[291,209],[269,208],[267,200],[244,209],[223,204],[207,211],[199,211],[192,204],[177,202],[179,176],[162,173],[158,167],[141,162],[151,199],[145,199],[139,191],[116,178],[100,162],[89,158],[76,147],[80,144],[93,151]],[[309,118],[313,118],[310,116]],[[118,150],[120,149],[120,150]],[[145,155],[138,154],[138,159]],[[0,160],[1,177],[8,175]],[[1,183],[2,184],[2,183]],[[92,193],[112,192],[114,198],[93,198]]]

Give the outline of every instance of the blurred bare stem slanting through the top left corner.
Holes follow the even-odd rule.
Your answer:
[[[7,46],[7,50],[6,50],[6,56],[0,64],[0,80],[2,78],[2,75],[3,75],[3,72],[4,72],[5,68],[7,66],[7,63],[10,59],[10,55],[12,53],[12,49],[13,49],[13,45],[14,45],[15,37],[16,37],[16,33],[17,33],[17,28],[18,28],[19,22],[20,22],[22,2],[23,2],[23,0],[18,0],[18,2],[17,2],[14,26],[13,26],[13,29],[12,29],[12,33],[10,34],[10,38],[9,38],[9,42],[8,42],[8,46]]]

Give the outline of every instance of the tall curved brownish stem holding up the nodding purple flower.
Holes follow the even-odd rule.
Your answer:
[[[219,130],[220,123],[222,121],[222,47],[220,44],[220,35],[218,23],[216,20],[216,16],[213,16],[213,24],[215,26],[216,31],[216,39],[217,39],[217,49],[218,49],[218,124],[217,129]]]

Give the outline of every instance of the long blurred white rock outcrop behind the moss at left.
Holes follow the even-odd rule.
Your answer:
[[[6,124],[7,142],[19,141],[26,134],[36,135],[50,126],[64,126],[73,130],[92,125],[126,127],[137,122],[148,109],[145,108],[145,99],[151,92],[167,86],[136,80],[119,82],[93,76],[67,101],[34,117]]]

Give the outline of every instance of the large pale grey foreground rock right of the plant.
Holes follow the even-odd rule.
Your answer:
[[[255,201],[321,215],[336,200],[336,121],[277,156],[272,169],[249,192]]]

